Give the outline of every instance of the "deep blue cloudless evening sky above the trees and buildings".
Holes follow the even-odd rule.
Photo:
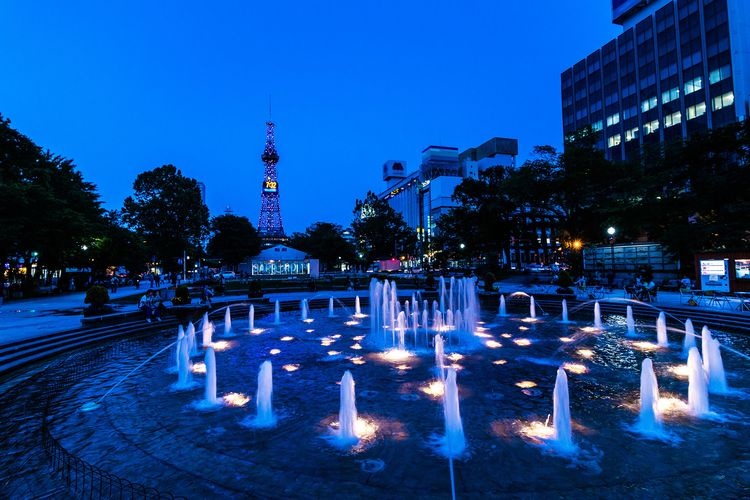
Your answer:
[[[0,0],[0,113],[106,208],[165,163],[254,225],[272,96],[287,233],[348,225],[388,159],[561,147],[560,72],[616,36],[607,0]]]

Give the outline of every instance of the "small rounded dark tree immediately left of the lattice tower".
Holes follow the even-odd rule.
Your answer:
[[[260,236],[247,217],[219,215],[211,220],[211,231],[209,256],[221,259],[232,269],[260,252]]]

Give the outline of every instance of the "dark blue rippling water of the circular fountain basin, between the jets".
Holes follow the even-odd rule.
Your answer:
[[[642,360],[653,360],[662,397],[687,401],[687,378],[675,369],[685,359],[682,338],[674,331],[668,348],[638,344],[656,344],[653,327],[639,328],[640,338],[626,338],[624,313],[623,306],[623,317],[605,316],[604,328],[595,330],[581,328],[591,326],[583,322],[563,325],[550,317],[524,322],[488,311],[482,337],[471,349],[457,345],[455,338],[446,340],[445,364],[457,371],[467,445],[464,455],[453,460],[458,497],[734,497],[746,491],[747,361],[723,353],[734,392],[711,395],[716,418],[693,418],[676,404],[664,417],[671,440],[638,435],[628,429],[638,418]],[[188,498],[450,495],[448,460],[436,445],[445,430],[440,391],[430,389],[436,379],[431,347],[424,341],[415,346],[407,331],[405,343],[413,355],[390,360],[368,342],[374,334],[366,319],[347,325],[350,318],[327,314],[312,311],[312,323],[300,321],[299,314],[283,314],[281,325],[273,317],[257,318],[255,326],[263,331],[254,334],[248,333],[247,321],[232,322],[237,336],[216,350],[217,391],[219,397],[233,393],[235,402],[243,401],[238,395],[249,397],[244,406],[196,409],[205,375],[194,374],[199,382],[194,390],[172,390],[172,349],[102,399],[123,376],[173,342],[173,332],[115,341],[97,347],[95,355],[91,349],[69,355],[24,384],[36,398],[48,395],[38,403],[47,429],[70,454],[162,492]],[[723,345],[750,351],[744,337],[714,335]],[[220,340],[214,335],[215,342]],[[490,340],[492,347],[485,344]],[[454,353],[461,356],[451,357]],[[273,363],[277,421],[256,429],[243,421],[255,415],[257,374],[264,361]],[[556,451],[545,434],[560,366],[568,376],[573,453]],[[331,436],[346,370],[354,378],[357,412],[369,434],[340,447]],[[6,422],[26,416],[18,404],[5,405],[2,415]],[[32,453],[36,437],[22,431]],[[17,458],[0,458],[4,470]],[[34,485],[47,488],[49,479],[35,483],[35,478],[45,476],[49,472],[43,467],[27,468],[6,491],[37,493]]]

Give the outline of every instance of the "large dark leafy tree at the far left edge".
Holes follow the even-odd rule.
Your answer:
[[[74,163],[53,155],[0,115],[0,258],[65,267],[102,222],[99,195]],[[15,268],[15,267],[14,267]]]

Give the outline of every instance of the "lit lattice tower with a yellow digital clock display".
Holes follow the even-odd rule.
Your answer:
[[[266,147],[260,157],[265,165],[265,173],[260,194],[258,233],[266,244],[283,243],[287,240],[284,234],[284,223],[281,220],[279,181],[276,178],[279,154],[276,152],[274,127],[273,122],[266,122]]]

